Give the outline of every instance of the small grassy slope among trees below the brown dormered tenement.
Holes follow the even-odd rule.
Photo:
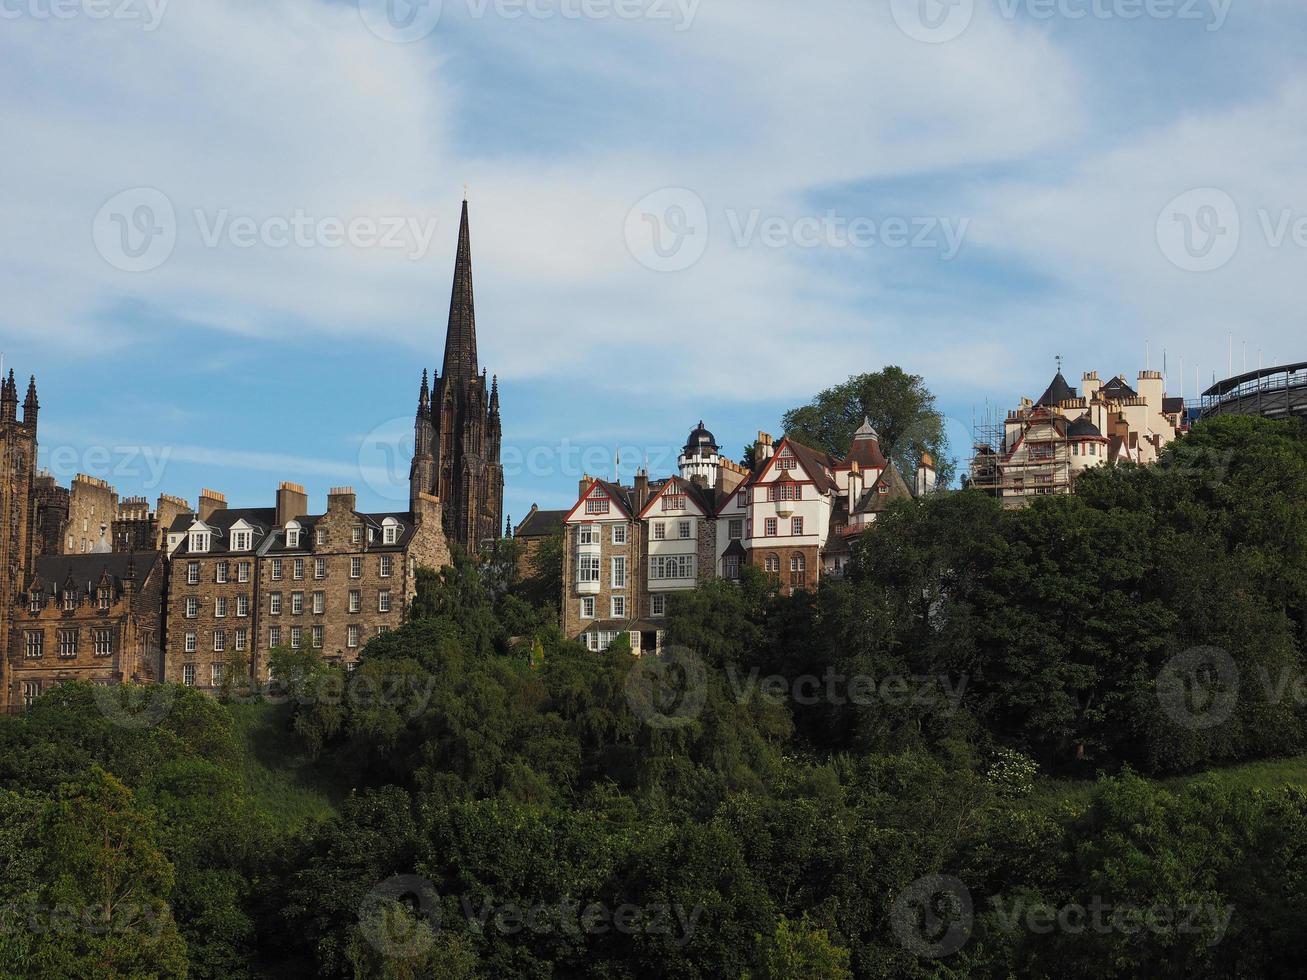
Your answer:
[[[336,813],[348,787],[297,749],[289,704],[229,704],[246,742],[246,788],[278,827],[294,831]]]

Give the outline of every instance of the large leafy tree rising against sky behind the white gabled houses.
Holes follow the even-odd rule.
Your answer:
[[[782,425],[786,435],[805,446],[844,456],[864,419],[876,427],[881,448],[910,480],[925,451],[935,457],[938,485],[951,482],[955,465],[949,459],[949,438],[935,395],[920,375],[894,365],[827,388],[809,404],[787,412]]]

